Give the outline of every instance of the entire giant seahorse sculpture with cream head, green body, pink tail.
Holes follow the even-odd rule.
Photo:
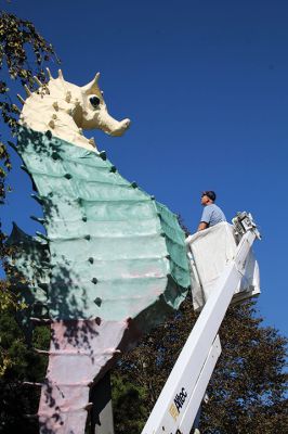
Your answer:
[[[16,226],[12,264],[29,321],[51,323],[41,433],[84,433],[89,392],[119,352],[184,299],[189,268],[176,216],[123,179],[82,129],[120,136],[99,74],[84,87],[53,78],[22,100],[17,152],[32,179],[45,233]]]

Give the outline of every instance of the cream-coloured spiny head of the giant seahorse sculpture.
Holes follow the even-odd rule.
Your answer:
[[[36,78],[37,92],[25,87],[28,98],[19,118],[23,126],[43,132],[50,129],[54,136],[95,152],[94,141],[83,136],[83,129],[99,128],[112,136],[121,136],[127,130],[130,119],[118,122],[107,112],[97,84],[100,73],[82,87],[66,81],[61,69],[57,78],[49,69],[48,73],[50,79],[45,86]]]

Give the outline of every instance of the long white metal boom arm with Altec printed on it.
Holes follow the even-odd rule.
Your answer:
[[[247,213],[236,217],[243,234],[233,260],[215,283],[142,434],[189,434],[206,387],[221,353],[218,330],[243,277],[246,257],[260,234]],[[243,232],[241,232],[243,231]],[[217,336],[217,337],[215,337]]]

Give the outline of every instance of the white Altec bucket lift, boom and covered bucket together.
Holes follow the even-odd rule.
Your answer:
[[[187,238],[194,309],[201,310],[142,434],[189,434],[221,354],[218,331],[228,306],[260,293],[251,246],[261,239],[251,214]],[[102,380],[95,434],[114,434],[109,379]],[[107,396],[106,396],[107,395]],[[195,434],[199,433],[195,430]]]

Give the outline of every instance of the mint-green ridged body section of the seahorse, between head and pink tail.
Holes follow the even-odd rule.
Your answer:
[[[18,153],[43,207],[50,318],[143,318],[152,327],[179,307],[191,280],[175,215],[105,153],[24,127]],[[42,295],[36,290],[39,303]]]

